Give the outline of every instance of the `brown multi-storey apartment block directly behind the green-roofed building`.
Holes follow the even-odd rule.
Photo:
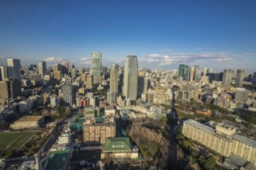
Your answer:
[[[116,137],[116,123],[114,120],[96,122],[95,118],[84,123],[83,141],[85,144],[105,144],[106,138]]]

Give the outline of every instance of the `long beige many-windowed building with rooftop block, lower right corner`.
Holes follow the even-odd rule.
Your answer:
[[[213,129],[188,120],[183,124],[182,134],[226,158],[238,155],[256,165],[256,141],[236,134],[236,128],[228,124],[217,124]]]

